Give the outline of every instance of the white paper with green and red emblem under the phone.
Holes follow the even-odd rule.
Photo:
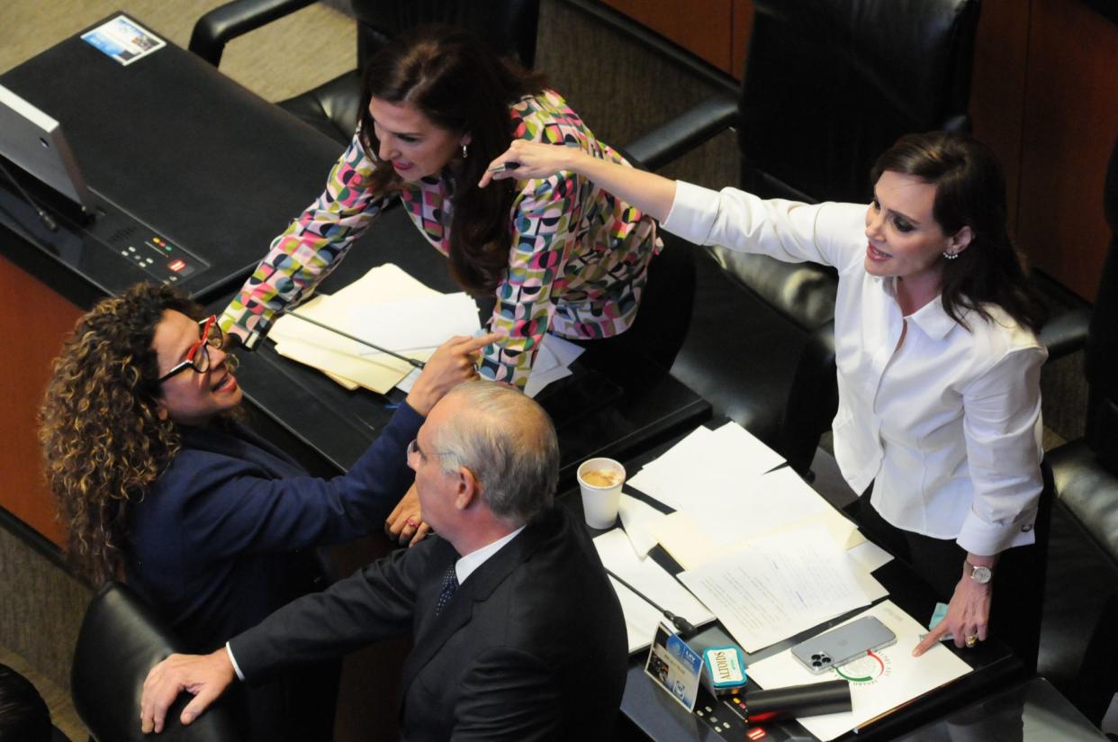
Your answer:
[[[912,649],[926,629],[892,602],[883,601],[850,621],[861,616],[878,617],[897,635],[897,644],[821,675],[808,673],[790,650],[752,663],[748,669],[750,679],[762,688],[846,678],[851,686],[852,711],[798,720],[823,742],[970,671],[966,663],[941,645],[934,646],[920,657],[912,657]]]

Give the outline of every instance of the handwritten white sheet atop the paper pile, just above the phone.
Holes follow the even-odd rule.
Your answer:
[[[747,652],[866,605],[845,550],[816,526],[680,574]]]

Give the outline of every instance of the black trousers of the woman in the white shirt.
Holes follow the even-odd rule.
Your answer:
[[[1041,609],[1044,602],[1044,574],[1048,566],[1048,536],[1054,486],[1048,466],[1044,491],[1033,528],[1035,543],[1002,552],[994,567],[988,636],[996,637],[1013,650],[1027,671],[1036,670],[1040,648]],[[872,486],[870,490],[872,490]],[[967,553],[954,539],[932,538],[891,525],[870,503],[866,490],[850,508],[868,538],[908,564],[931,585],[947,603],[963,576]],[[928,617],[913,617],[918,621]]]

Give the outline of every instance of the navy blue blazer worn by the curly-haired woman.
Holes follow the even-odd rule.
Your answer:
[[[129,584],[206,652],[312,588],[306,550],[380,528],[410,486],[407,404],[345,475],[310,477],[243,425],[182,429],[182,450],[132,507]]]

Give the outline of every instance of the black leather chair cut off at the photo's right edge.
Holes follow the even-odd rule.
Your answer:
[[[1048,455],[1064,535],[1050,548],[1040,667],[1096,723],[1118,692],[1118,141],[1102,200],[1111,236],[1087,337],[1087,432]]]

